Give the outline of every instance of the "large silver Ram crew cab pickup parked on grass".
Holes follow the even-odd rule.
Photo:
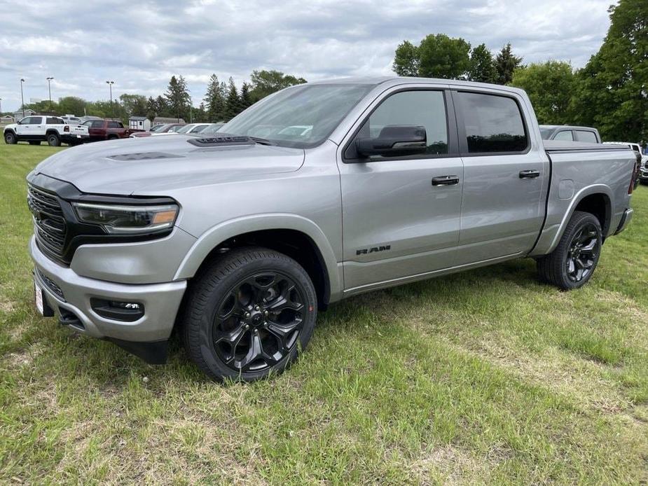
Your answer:
[[[308,83],[207,137],[71,148],[27,176],[36,305],[151,363],[174,327],[207,375],[283,370],[318,310],[511,258],[588,282],[633,210],[635,155],[543,141],[525,92]]]

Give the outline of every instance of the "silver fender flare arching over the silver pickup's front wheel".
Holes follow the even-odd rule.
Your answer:
[[[330,286],[330,300],[337,300],[343,290],[342,273],[329,239],[317,224],[297,214],[272,213],[241,216],[223,221],[198,237],[181,261],[174,280],[190,279],[205,261],[205,258],[219,244],[243,233],[261,230],[296,230],[310,237],[322,256]]]

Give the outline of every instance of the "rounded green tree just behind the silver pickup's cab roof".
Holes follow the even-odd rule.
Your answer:
[[[511,85],[527,92],[539,123],[574,123],[570,105],[575,79],[572,65],[568,62],[547,61],[518,67]]]

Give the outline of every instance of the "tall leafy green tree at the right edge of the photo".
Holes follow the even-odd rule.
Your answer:
[[[620,0],[609,8],[607,36],[577,73],[578,123],[603,139],[648,139],[648,3]]]

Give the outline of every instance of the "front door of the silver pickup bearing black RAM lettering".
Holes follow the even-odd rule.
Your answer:
[[[394,90],[374,106],[338,161],[347,291],[448,268],[459,241],[463,167],[450,95]],[[361,158],[355,141],[386,125],[425,127],[426,153]]]

